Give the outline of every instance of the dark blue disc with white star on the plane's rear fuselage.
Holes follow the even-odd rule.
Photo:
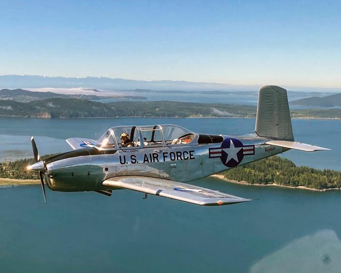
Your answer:
[[[224,139],[221,148],[222,155],[220,159],[225,166],[232,168],[237,166],[243,160],[243,143],[241,143],[240,140],[235,138],[226,138]]]

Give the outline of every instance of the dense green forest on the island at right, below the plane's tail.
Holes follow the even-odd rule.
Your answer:
[[[228,180],[245,181],[249,184],[275,183],[318,190],[341,187],[339,171],[297,167],[292,161],[276,155],[230,169],[223,172],[223,175]]]

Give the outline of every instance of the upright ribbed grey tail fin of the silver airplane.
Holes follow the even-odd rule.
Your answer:
[[[294,140],[285,89],[275,85],[259,89],[255,131],[258,136]]]

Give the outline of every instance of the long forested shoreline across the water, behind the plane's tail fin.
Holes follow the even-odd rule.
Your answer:
[[[86,99],[52,98],[26,103],[0,100],[0,116],[52,119],[97,117],[254,118],[256,116],[256,107],[250,105],[178,101],[118,101],[100,103]],[[341,119],[341,109],[295,109],[292,117]]]

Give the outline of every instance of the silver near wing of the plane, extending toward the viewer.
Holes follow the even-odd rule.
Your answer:
[[[102,185],[167,197],[196,205],[231,205],[251,201],[219,191],[153,177],[118,176],[103,181]]]

